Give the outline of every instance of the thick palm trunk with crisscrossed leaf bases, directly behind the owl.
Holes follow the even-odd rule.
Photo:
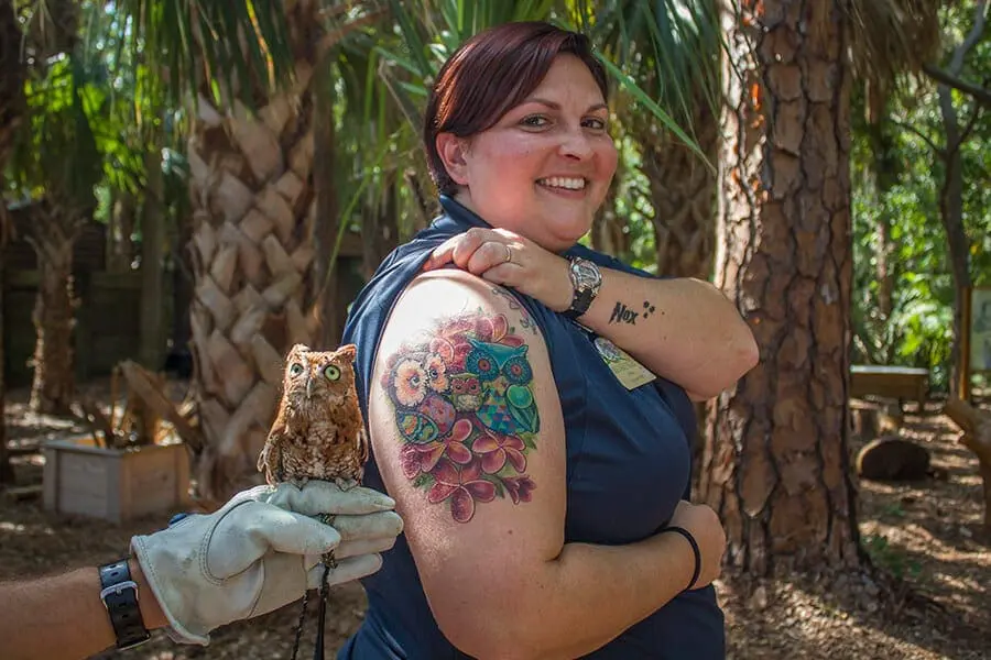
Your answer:
[[[200,96],[188,142],[192,387],[206,438],[194,474],[198,495],[215,502],[260,483],[255,462],[285,355],[317,330],[306,309],[314,258],[313,11],[297,3],[286,16],[300,46],[291,89],[254,118],[239,103],[218,111]]]

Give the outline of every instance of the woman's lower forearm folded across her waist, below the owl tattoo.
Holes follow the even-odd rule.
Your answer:
[[[675,534],[628,546],[567,543],[507,592],[482,596],[489,607],[461,603],[457,620],[438,623],[455,646],[482,660],[577,658],[677,596],[694,568],[688,542]]]

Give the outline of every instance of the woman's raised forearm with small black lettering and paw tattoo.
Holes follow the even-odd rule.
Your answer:
[[[599,295],[579,321],[704,398],[729,387],[758,361],[740,312],[700,279],[653,279],[603,268]]]

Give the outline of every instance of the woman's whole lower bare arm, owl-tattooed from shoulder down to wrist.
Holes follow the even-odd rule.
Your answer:
[[[414,280],[381,339],[369,422],[447,638],[479,658],[574,658],[683,591],[694,558],[676,535],[622,547],[564,542],[564,422],[546,346],[521,329],[520,314],[466,273]],[[497,366],[507,375],[491,376]],[[530,396],[510,393],[513,374],[535,410],[504,422],[490,415],[501,393],[516,405]]]

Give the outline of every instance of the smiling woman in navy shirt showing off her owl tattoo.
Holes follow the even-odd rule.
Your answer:
[[[725,537],[682,501],[686,392],[714,396],[756,351],[709,285],[576,244],[616,170],[606,100],[585,37],[543,23],[475,36],[437,77],[444,213],[345,330],[367,481],[406,534],[342,658],[723,656]]]

